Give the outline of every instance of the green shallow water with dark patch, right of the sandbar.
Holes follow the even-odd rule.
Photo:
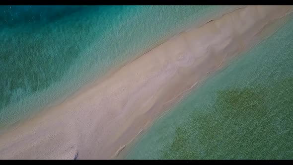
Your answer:
[[[293,159],[293,17],[194,89],[126,159]]]

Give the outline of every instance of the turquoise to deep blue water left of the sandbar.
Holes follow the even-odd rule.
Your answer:
[[[0,131],[233,6],[0,6]]]

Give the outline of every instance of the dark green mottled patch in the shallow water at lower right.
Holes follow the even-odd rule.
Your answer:
[[[162,159],[291,159],[292,100],[292,78],[271,87],[220,90],[207,113],[195,110],[177,127]],[[272,101],[277,105],[270,107]]]

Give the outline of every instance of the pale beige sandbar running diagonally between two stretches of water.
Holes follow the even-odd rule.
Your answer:
[[[0,136],[0,159],[113,159],[230,57],[260,42],[292,6],[247,6],[182,32],[89,90]]]

